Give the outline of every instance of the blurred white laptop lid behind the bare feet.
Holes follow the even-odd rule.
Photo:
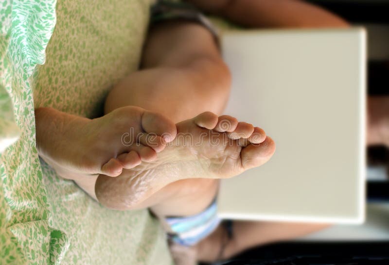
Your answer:
[[[263,128],[276,151],[221,181],[218,215],[363,222],[365,31],[233,31],[221,43],[232,74],[225,113]]]

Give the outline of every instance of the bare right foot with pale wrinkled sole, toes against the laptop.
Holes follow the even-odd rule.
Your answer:
[[[142,162],[117,178],[100,175],[95,185],[106,207],[134,209],[169,183],[189,178],[222,179],[261,166],[275,145],[265,132],[231,116],[205,112],[177,123],[177,137],[153,162]]]

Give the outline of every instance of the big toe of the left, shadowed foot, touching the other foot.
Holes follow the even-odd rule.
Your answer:
[[[142,115],[141,125],[145,132],[162,136],[165,142],[171,142],[176,138],[176,124],[159,113],[145,111]]]

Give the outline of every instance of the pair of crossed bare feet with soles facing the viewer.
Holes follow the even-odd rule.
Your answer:
[[[92,197],[118,210],[178,180],[236,176],[263,165],[275,149],[262,129],[211,112],[177,124],[134,106],[91,120],[53,109],[37,115],[54,118],[59,130],[39,139],[39,155],[61,177],[87,180]]]

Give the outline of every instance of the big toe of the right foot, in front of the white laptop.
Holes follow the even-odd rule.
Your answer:
[[[265,164],[275,151],[274,141],[266,137],[260,144],[251,144],[241,151],[241,163],[244,169],[249,169]]]

